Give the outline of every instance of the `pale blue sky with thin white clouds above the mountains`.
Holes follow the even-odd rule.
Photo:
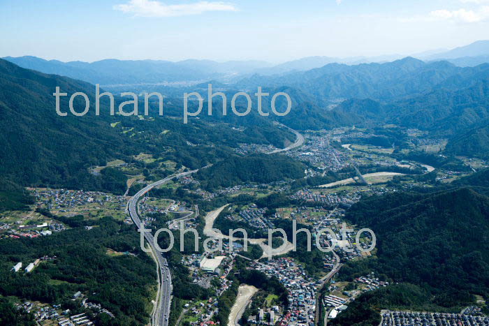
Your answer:
[[[0,0],[0,57],[263,60],[489,38],[489,0]]]

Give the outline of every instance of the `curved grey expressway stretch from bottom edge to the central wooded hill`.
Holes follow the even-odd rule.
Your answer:
[[[136,193],[136,195],[129,200],[128,211],[134,224],[140,228],[141,220],[138,216],[138,200],[141,196],[145,195],[148,191],[156,186],[160,186],[171,179],[176,177],[183,177],[184,175],[190,175],[191,173],[197,172],[198,170],[193,170],[189,172],[183,172],[178,175],[173,175],[165,179],[154,182],[154,184],[149,184],[145,188],[141,189]],[[170,318],[170,304],[171,304],[171,274],[168,268],[168,262],[163,258],[163,255],[154,247],[153,235],[149,232],[145,232],[145,239],[149,244],[149,248],[152,251],[152,255],[156,260],[156,265],[158,267],[158,278],[161,286],[159,287],[158,297],[156,298],[156,309],[154,309],[152,314],[152,325],[153,326],[167,326],[168,319]]]

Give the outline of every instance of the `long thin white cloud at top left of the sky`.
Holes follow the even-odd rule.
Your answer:
[[[199,15],[207,11],[236,11],[231,3],[199,1],[195,3],[166,5],[154,0],[130,0],[126,4],[114,6],[115,10],[132,13],[140,17],[175,17]]]

